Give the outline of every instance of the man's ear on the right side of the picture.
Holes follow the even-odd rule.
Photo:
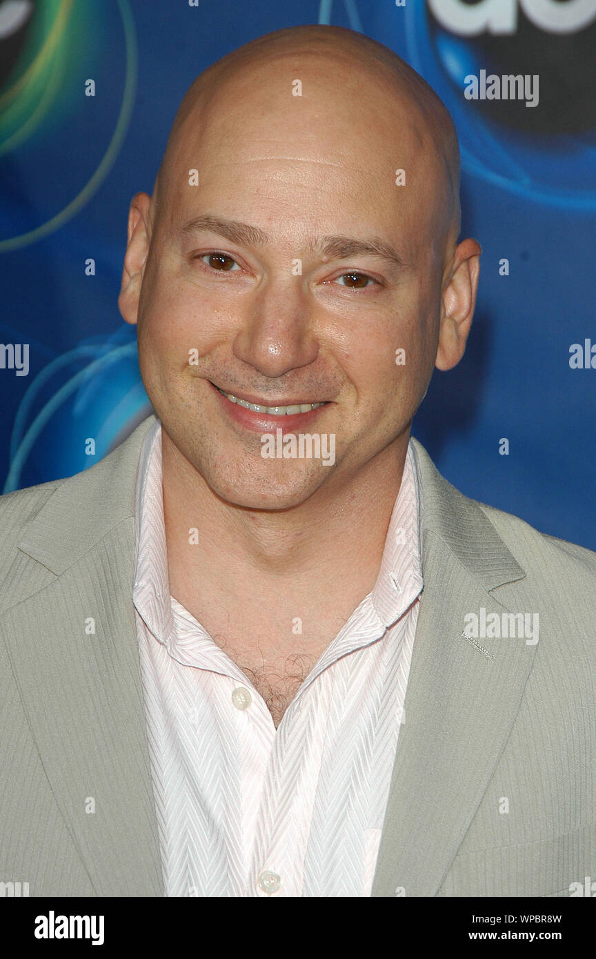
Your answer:
[[[464,355],[476,305],[481,253],[480,244],[471,239],[463,240],[455,248],[447,284],[443,290],[439,343],[435,357],[437,369],[452,369]]]

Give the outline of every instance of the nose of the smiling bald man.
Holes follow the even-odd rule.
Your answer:
[[[264,376],[279,377],[313,363],[319,351],[313,305],[297,277],[269,280],[246,304],[233,351]]]

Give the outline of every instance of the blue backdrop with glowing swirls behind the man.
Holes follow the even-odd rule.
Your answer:
[[[150,412],[117,306],[128,203],[197,73],[317,22],[407,59],[460,136],[480,292],[413,433],[467,495],[596,550],[596,0],[0,2],[2,491],[86,469]],[[483,70],[538,76],[538,105],[469,99]]]

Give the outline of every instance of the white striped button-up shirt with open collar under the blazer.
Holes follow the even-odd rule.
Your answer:
[[[277,730],[170,595],[159,420],[136,495],[133,602],[166,896],[370,896],[423,588],[412,444],[376,585]]]

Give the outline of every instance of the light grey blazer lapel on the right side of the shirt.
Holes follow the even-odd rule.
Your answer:
[[[374,897],[437,894],[510,734],[536,649],[523,638],[478,638],[478,648],[462,636],[467,614],[483,607],[499,620],[528,612],[522,591],[506,585],[525,573],[480,507],[414,447],[424,591]],[[499,589],[509,605],[493,595]]]

